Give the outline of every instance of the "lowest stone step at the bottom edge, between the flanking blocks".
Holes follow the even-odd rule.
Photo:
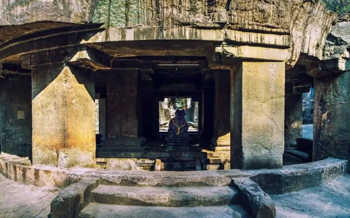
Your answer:
[[[249,218],[239,206],[140,207],[90,203],[79,218]]]

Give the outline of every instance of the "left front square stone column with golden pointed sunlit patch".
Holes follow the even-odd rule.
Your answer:
[[[64,62],[32,66],[34,165],[94,164],[94,93],[90,71],[67,67]]]

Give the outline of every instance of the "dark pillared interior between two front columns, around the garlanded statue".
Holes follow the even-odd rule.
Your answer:
[[[95,74],[100,167],[229,169],[229,70],[186,56],[137,56],[115,65]],[[185,113],[189,145],[170,151],[165,138],[176,110]]]

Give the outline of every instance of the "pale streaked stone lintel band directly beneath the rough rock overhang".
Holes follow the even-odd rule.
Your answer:
[[[161,30],[160,30],[161,31]],[[132,41],[132,40],[204,40],[227,41],[236,43],[253,43],[276,47],[290,47],[291,36],[288,32],[249,31],[237,29],[209,29],[190,26],[166,27],[159,34],[158,27],[109,28],[96,33],[93,39],[104,41]]]

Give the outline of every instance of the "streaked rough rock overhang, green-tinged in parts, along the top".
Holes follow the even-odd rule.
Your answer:
[[[172,39],[180,38],[182,34],[204,34],[197,31],[179,33],[178,29],[171,29],[175,27],[216,29],[220,32],[215,33],[217,40],[268,42],[291,47],[291,55],[286,60],[290,65],[295,64],[300,52],[321,57],[325,38],[335,18],[333,12],[313,0],[1,0],[0,8],[0,25],[50,20],[101,22],[107,28],[163,27],[168,28],[165,37],[174,35]],[[53,26],[56,25],[53,23]],[[28,27],[28,30],[32,28]],[[263,34],[244,34],[242,30]],[[149,39],[149,32],[146,32],[139,32],[144,35],[138,38]],[[214,33],[206,34],[199,39],[208,40],[207,36]],[[271,34],[281,36],[272,37]]]

